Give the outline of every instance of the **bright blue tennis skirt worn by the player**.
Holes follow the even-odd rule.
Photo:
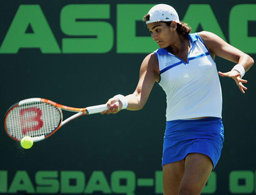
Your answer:
[[[162,165],[180,161],[189,153],[209,156],[215,168],[224,142],[221,118],[207,117],[166,122]]]

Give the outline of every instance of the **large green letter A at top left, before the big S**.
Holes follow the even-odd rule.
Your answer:
[[[32,33],[26,33],[29,26]],[[39,5],[19,6],[0,47],[0,53],[14,54],[20,48],[40,48],[42,53],[61,53]]]

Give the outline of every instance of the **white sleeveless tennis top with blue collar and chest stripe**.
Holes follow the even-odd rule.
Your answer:
[[[207,47],[198,33],[188,34],[188,62],[165,49],[157,49],[160,81],[166,92],[166,120],[221,118],[221,84]]]

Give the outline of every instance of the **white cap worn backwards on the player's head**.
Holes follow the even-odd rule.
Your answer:
[[[146,24],[153,22],[168,22],[175,20],[177,23],[180,22],[177,11],[169,5],[166,4],[158,4],[152,7],[149,11],[149,20],[146,21]]]

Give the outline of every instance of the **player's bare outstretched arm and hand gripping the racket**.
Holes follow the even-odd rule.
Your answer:
[[[139,82],[135,91],[132,94],[125,96],[128,100],[128,106],[126,109],[140,110],[143,108],[148,100],[148,96],[153,88],[154,82],[158,81],[160,78],[159,75],[156,55],[154,53],[148,54],[141,64]],[[119,101],[119,109],[117,106],[113,105],[113,103],[117,101],[118,99],[116,97],[109,99],[107,102],[109,109],[102,112],[102,114],[119,112],[119,110],[122,108],[122,103]]]

